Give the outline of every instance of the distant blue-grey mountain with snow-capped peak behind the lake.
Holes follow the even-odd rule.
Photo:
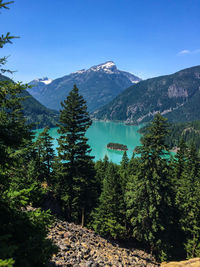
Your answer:
[[[29,89],[29,92],[46,107],[59,110],[60,102],[76,84],[91,112],[107,104],[128,86],[140,80],[131,73],[118,70],[112,61],[108,61],[53,81],[48,78],[33,80],[30,83],[33,88]]]

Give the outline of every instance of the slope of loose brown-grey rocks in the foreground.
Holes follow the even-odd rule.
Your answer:
[[[59,247],[52,266],[67,267],[154,267],[154,258],[141,250],[126,249],[79,225],[57,221],[49,238]]]

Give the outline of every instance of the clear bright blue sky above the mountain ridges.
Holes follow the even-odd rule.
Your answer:
[[[20,37],[0,49],[15,81],[110,60],[143,79],[200,65],[200,0],[15,0],[7,32]]]

